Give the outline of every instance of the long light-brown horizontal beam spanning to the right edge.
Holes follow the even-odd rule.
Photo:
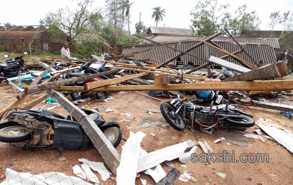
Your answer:
[[[184,90],[231,90],[231,91],[277,91],[293,89],[293,80],[267,80],[267,81],[238,81],[238,82],[213,82],[193,84],[167,84],[167,85],[124,85],[107,86],[93,89],[91,91],[117,92],[117,91],[184,91]],[[84,92],[84,89],[62,86],[56,88],[58,91]]]

